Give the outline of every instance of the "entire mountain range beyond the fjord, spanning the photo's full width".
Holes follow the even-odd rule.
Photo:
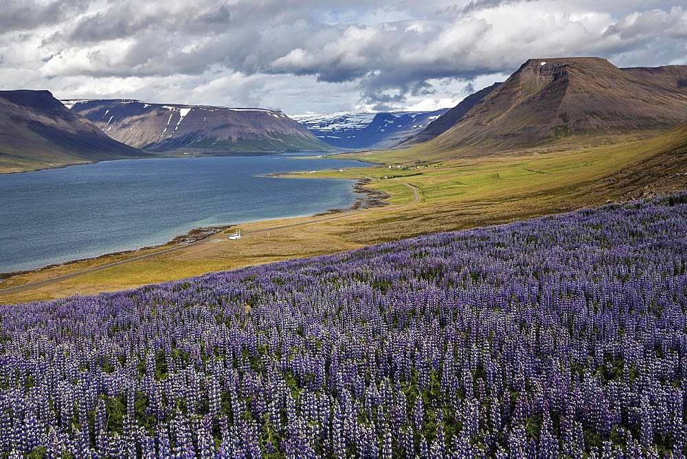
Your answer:
[[[456,148],[498,152],[569,138],[612,142],[614,135],[685,121],[687,65],[620,69],[602,58],[530,59],[505,82],[453,109],[295,120],[266,109],[125,99],[60,103],[48,91],[0,91],[0,172],[152,153],[406,148],[403,155],[421,159]]]

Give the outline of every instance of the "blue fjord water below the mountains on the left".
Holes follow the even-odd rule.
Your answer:
[[[161,244],[196,227],[347,208],[355,200],[350,180],[265,175],[356,166],[267,155],[129,159],[0,175],[0,272]]]

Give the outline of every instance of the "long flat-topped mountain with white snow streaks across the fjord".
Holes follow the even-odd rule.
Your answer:
[[[150,151],[262,153],[328,151],[306,128],[280,111],[140,100],[64,100],[104,133]]]

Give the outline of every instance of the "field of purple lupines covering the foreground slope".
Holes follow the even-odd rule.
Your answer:
[[[0,450],[680,457],[687,195],[0,306]]]

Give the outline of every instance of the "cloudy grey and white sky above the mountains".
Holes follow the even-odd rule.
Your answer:
[[[684,0],[0,0],[0,89],[267,107],[451,107],[528,58],[687,63]]]

